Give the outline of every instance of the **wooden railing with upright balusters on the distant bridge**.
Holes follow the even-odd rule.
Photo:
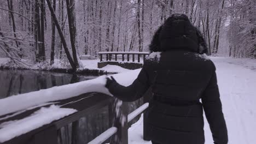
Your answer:
[[[146,56],[149,54],[149,52],[98,52],[101,62],[103,61],[103,55],[106,55],[106,61],[112,61],[112,56],[114,55],[114,61],[118,61],[118,58],[125,61],[126,57],[127,62],[130,61],[130,56],[132,56],[132,62],[135,62],[135,56],[137,55],[137,61],[141,62],[141,56],[143,57],[143,60],[145,60]]]

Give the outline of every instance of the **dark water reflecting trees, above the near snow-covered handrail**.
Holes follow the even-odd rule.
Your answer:
[[[0,99],[96,77],[38,70],[0,70]]]

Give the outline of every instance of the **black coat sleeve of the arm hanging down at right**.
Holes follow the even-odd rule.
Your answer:
[[[222,103],[219,98],[220,94],[215,70],[214,66],[210,82],[202,95],[202,105],[212,131],[214,143],[226,144],[228,143],[228,131],[222,112]]]

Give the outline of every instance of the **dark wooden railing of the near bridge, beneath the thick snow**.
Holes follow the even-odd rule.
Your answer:
[[[45,124],[40,128],[29,131],[28,133],[22,134],[20,136],[14,137],[11,140],[3,142],[3,144],[56,144],[60,143],[60,128],[65,125],[69,125],[72,123],[72,127],[76,127],[77,130],[73,132],[71,143],[77,143],[77,135],[79,124],[78,121],[80,118],[90,114],[95,113],[97,110],[101,109],[104,106],[108,106],[109,110],[109,129],[104,131],[101,135],[98,135],[94,140],[89,142],[90,144],[95,143],[108,143],[111,144],[127,144],[128,143],[128,125],[129,122],[141,114],[148,107],[148,99],[152,97],[150,91],[144,95],[144,104],[131,113],[127,113],[128,103],[122,103],[121,106],[117,105],[117,99],[110,97],[109,95],[102,93],[85,93],[79,95],[77,97],[64,99],[57,102],[58,105],[62,105],[63,108],[72,108],[77,110],[77,112],[72,115],[63,117],[56,121],[53,121],[49,124]],[[49,105],[48,105],[49,106]],[[120,106],[120,107],[119,107]],[[44,106],[45,107],[45,106]],[[119,107],[119,108],[118,108]],[[22,119],[30,116],[33,112],[39,110],[40,107],[36,107],[31,110],[27,110],[25,112],[19,113],[13,117],[3,119],[3,117],[9,116],[11,113],[7,115],[0,116],[0,124],[9,121],[15,121],[16,119]],[[117,109],[119,109],[117,113]],[[144,118],[145,119],[145,118]],[[145,120],[144,120],[145,121]],[[30,123],[28,123],[30,124]],[[144,132],[146,134],[146,131]],[[146,135],[144,135],[144,139]],[[0,142],[1,143],[1,142]]]

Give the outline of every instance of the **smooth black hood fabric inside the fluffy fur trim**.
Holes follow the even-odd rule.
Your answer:
[[[184,14],[173,14],[162,26],[159,41],[161,49],[188,49],[198,52],[196,29]]]

